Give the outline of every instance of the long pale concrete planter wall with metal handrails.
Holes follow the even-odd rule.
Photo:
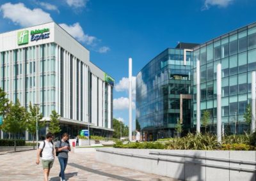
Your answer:
[[[97,161],[180,180],[255,181],[255,151],[97,148]]]

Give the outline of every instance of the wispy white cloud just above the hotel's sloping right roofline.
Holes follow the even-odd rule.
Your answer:
[[[71,34],[78,41],[86,43],[87,45],[93,45],[93,43],[97,41],[97,38],[95,36],[89,36],[88,34],[84,34],[83,28],[78,22],[73,25],[60,24],[60,26],[63,27],[65,31]]]

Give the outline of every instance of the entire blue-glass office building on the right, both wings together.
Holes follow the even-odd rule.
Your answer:
[[[189,131],[195,131],[196,119],[200,120],[205,110],[210,113],[207,129],[216,133],[219,63],[223,131],[243,134],[250,130],[243,115],[251,103],[252,71],[256,70],[256,23],[201,45],[192,44],[190,48],[186,45],[181,43],[157,55],[136,77],[136,119],[147,140],[173,136],[177,118],[182,120],[185,130],[190,124]],[[197,81],[196,71],[200,76]],[[187,83],[190,88],[182,92],[187,90]],[[184,94],[188,98],[185,100],[191,101],[190,105],[189,102],[184,105]],[[200,108],[199,115],[197,108]],[[151,138],[147,134],[151,134]]]

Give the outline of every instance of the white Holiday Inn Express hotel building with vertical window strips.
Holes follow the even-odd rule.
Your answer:
[[[0,86],[22,106],[39,104],[44,120],[61,115],[61,133],[113,133],[114,80],[90,62],[90,52],[60,25],[50,22],[0,34]],[[45,135],[47,126],[40,130]],[[39,138],[40,138],[39,136]],[[9,134],[1,131],[1,138]],[[31,140],[29,133],[20,138]]]

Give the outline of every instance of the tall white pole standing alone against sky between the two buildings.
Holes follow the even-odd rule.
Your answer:
[[[129,140],[132,141],[132,58],[129,58]]]

